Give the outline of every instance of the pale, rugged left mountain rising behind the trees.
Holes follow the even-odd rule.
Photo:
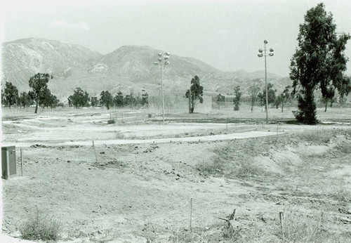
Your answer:
[[[86,70],[100,56],[84,46],[47,39],[6,42],[2,45],[3,81],[13,82],[20,90],[26,89],[29,77],[37,72],[68,77],[72,69]]]

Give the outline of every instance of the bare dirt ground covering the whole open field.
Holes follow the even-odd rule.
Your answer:
[[[350,110],[320,113],[317,126],[288,112],[263,124],[262,112],[244,109],[236,121],[213,112],[166,124],[107,124],[106,111],[10,113],[2,141],[23,146],[24,159],[23,176],[18,159],[18,176],[2,180],[6,235],[38,209],[60,221],[62,242],[351,241]],[[228,232],[219,217],[234,209]]]

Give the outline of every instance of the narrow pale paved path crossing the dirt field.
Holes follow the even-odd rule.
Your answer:
[[[218,134],[212,136],[196,136],[184,138],[155,138],[155,139],[119,139],[119,140],[94,140],[95,145],[119,145],[119,144],[140,144],[140,143],[173,143],[173,142],[197,142],[197,141],[215,141],[215,140],[232,140],[244,138],[259,138],[265,136],[283,134],[273,131],[246,131],[243,133]],[[15,145],[16,147],[30,147],[31,145],[40,144],[48,146],[65,146],[65,145],[91,145],[91,140],[67,141],[64,143],[12,143],[3,145]]]

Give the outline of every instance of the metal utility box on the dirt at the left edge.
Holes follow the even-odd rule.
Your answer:
[[[1,147],[1,178],[8,179],[16,175],[16,147]]]

